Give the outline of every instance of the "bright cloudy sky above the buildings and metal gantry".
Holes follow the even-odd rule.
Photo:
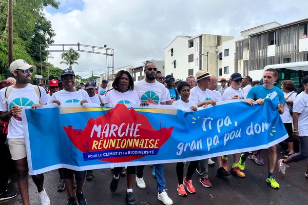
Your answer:
[[[72,8],[65,1],[67,8]],[[94,1],[83,10],[48,13],[56,33],[55,44],[88,44],[114,49],[114,67],[139,66],[147,59],[164,58],[164,48],[177,35],[200,33],[239,36],[240,31],[277,21],[306,18],[307,1]],[[63,10],[63,9],[62,9]],[[65,10],[65,9],[64,9]],[[69,10],[69,9],[68,9]],[[59,65],[61,53],[52,53]],[[106,56],[81,53],[76,73],[88,77],[106,70]]]

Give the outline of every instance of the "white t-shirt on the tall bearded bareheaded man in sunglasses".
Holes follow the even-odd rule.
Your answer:
[[[137,92],[141,103],[148,102],[149,104],[158,105],[161,102],[168,101],[167,95],[170,98],[168,89],[156,80],[155,83],[147,83],[145,79],[138,81],[134,84],[134,91]]]

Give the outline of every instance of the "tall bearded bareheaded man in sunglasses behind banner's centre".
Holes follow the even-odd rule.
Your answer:
[[[165,86],[159,83],[156,78],[157,68],[155,63],[147,61],[144,65],[145,79],[138,81],[134,85],[134,91],[137,92],[141,103],[148,103],[153,105],[166,105],[166,102],[170,100],[170,95],[166,90]],[[169,96],[169,99],[167,97]],[[164,166],[154,165],[155,174],[158,189],[158,199],[164,204],[172,204],[172,200],[168,197],[166,189],[166,181],[164,177]],[[145,189],[146,185],[143,180],[143,169],[144,166],[137,166],[137,186],[141,189]]]

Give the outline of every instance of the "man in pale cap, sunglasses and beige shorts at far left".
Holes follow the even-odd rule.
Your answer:
[[[28,190],[28,162],[25,145],[25,136],[23,129],[23,121],[21,118],[22,107],[31,106],[32,109],[40,107],[48,103],[45,89],[37,87],[40,96],[37,94],[31,83],[31,76],[35,66],[29,65],[25,60],[18,59],[10,65],[10,72],[16,79],[13,87],[7,87],[0,90],[0,119],[9,121],[8,141],[12,159],[15,161],[17,169],[18,188],[20,190],[23,204],[29,205]],[[11,89],[10,92],[7,89]],[[13,106],[12,106],[13,105]],[[37,187],[38,196],[41,204],[49,205],[50,200],[43,188],[44,175],[38,174],[32,176],[33,182]]]

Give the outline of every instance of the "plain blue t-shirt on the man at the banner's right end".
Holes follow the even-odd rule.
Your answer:
[[[278,101],[280,104],[284,104],[284,95],[282,90],[280,90],[279,88],[277,88],[276,86],[274,86],[274,88],[272,89],[266,89],[264,88],[263,85],[260,86],[255,86],[253,87],[251,90],[249,90],[247,97],[246,98],[250,98],[253,100],[257,100],[259,98],[265,98],[268,94],[273,93],[274,91],[277,92],[277,96],[275,98],[278,97]]]

